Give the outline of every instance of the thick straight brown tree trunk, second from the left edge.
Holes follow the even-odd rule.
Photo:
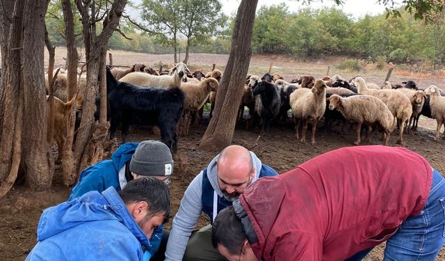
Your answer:
[[[44,87],[44,15],[46,0],[27,0],[23,19],[24,117],[22,160],[26,184],[33,189],[49,189],[48,110]],[[37,109],[38,108],[38,109]]]

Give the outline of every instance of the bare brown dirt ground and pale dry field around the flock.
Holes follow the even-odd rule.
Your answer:
[[[115,65],[131,65],[133,63],[145,63],[153,66],[155,63],[172,63],[172,55],[149,55],[136,54],[131,52],[112,51],[113,63]],[[63,65],[63,56],[65,50],[56,49],[56,64]],[[216,63],[216,68],[223,69],[227,62],[227,55],[214,54],[191,54],[189,66],[191,69],[200,68],[204,71],[211,70],[212,63]],[[250,73],[264,74],[268,71],[270,63],[273,63],[273,72],[280,72],[286,80],[298,77],[300,74],[312,74],[315,77],[321,77],[326,73],[327,66],[339,64],[343,58],[330,58],[323,61],[295,61],[291,58],[282,56],[260,56],[254,55],[250,63]],[[46,64],[46,63],[45,63]],[[355,76],[356,72],[339,71],[332,67],[330,74],[340,74],[344,78]],[[381,83],[385,79],[386,70],[367,70],[359,72],[369,81]],[[418,81],[416,76],[407,77],[397,74],[397,69],[391,77],[392,82],[401,82],[403,80]],[[444,88],[445,79],[443,78],[421,78],[419,81],[421,88],[428,87],[430,84]],[[213,153],[199,150],[198,145],[202,134],[207,127],[208,118],[205,118],[199,125],[191,126],[191,133],[188,136],[180,137],[179,150],[175,155],[175,170],[172,175],[172,214],[177,212],[180,200],[188,184],[193,180],[204,166],[215,156]],[[296,141],[291,124],[274,126],[265,136],[257,142],[252,151],[263,161],[275,168],[278,172],[284,173],[291,168],[298,166],[304,161],[320,155],[323,152],[334,150],[352,144],[354,132],[348,130],[341,132],[339,127],[334,127],[332,132],[325,132],[320,124],[316,134],[317,144],[299,143]],[[406,148],[410,148],[426,157],[430,164],[439,172],[445,173],[444,163],[444,145],[445,140],[438,142],[432,141],[435,132],[435,121],[422,118],[419,123],[419,131],[410,135],[405,135]],[[397,134],[397,131],[396,131]],[[391,135],[390,145],[396,146],[395,136]],[[116,134],[115,148],[121,143],[120,134]],[[257,130],[245,130],[242,126],[236,128],[234,134],[234,144],[244,145],[251,148],[257,140]],[[130,129],[129,141],[143,141],[146,139],[159,139],[148,127],[133,126]],[[378,135],[375,135],[368,144],[380,144]],[[399,145],[397,145],[399,146]],[[42,210],[46,207],[56,205],[66,200],[69,189],[63,187],[60,182],[60,171],[56,168],[56,177],[54,185],[50,191],[32,192],[27,191],[26,187],[15,186],[8,196],[0,201],[0,258],[1,260],[24,260],[26,254],[35,245],[35,230]],[[200,219],[200,226],[206,223],[206,219]],[[168,224],[168,226],[170,226]],[[382,260],[382,251],[384,246],[378,246],[371,252],[365,260]],[[445,248],[442,248],[437,260],[445,260]]]

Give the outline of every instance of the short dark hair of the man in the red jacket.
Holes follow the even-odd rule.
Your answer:
[[[234,207],[226,207],[218,213],[211,228],[211,244],[214,248],[220,244],[227,248],[230,254],[239,255],[247,239],[243,223],[236,216]]]

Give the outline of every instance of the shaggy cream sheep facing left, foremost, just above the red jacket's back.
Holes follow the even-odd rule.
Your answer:
[[[382,141],[384,141],[385,145],[389,144],[389,135],[394,130],[394,116],[392,116],[386,104],[379,98],[371,95],[341,97],[334,94],[328,99],[330,101],[330,110],[338,109],[346,120],[357,122],[355,145],[359,145],[361,142],[360,132],[363,124],[374,127],[372,132],[375,130],[375,127],[382,131]],[[366,136],[366,140],[369,139],[371,133]]]

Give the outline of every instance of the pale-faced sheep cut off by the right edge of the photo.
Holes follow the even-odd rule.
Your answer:
[[[430,95],[431,116],[437,121],[435,141],[439,141],[440,128],[445,125],[445,97],[440,95],[440,92],[441,90],[435,85],[431,85],[425,90],[425,94]]]

